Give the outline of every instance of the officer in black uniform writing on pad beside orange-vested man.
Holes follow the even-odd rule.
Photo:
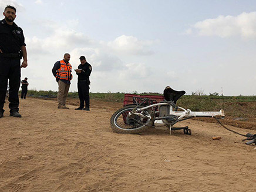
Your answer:
[[[89,97],[89,76],[92,73],[92,65],[86,61],[85,56],[80,56],[81,64],[78,69],[75,69],[78,75],[78,95],[80,99],[80,106],[76,110],[90,110],[90,97]],[[85,108],[83,108],[85,106]]]

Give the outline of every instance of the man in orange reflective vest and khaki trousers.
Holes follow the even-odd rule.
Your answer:
[[[69,63],[69,53],[64,54],[63,60],[56,62],[52,68],[52,74],[56,78],[59,85],[58,92],[58,109],[69,109],[66,107],[66,99],[68,97],[70,80],[72,79],[72,66]]]

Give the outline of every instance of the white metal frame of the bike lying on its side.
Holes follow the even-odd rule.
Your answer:
[[[132,112],[129,112],[129,115],[130,114],[136,114],[137,116],[140,116],[140,117],[143,117],[143,118],[150,118],[152,119],[151,116],[146,116],[142,113],[139,113],[139,112],[142,112],[143,110],[147,110],[147,109],[150,109],[152,107],[160,107],[160,106],[164,106],[164,105],[169,105],[170,106],[170,110],[169,110],[169,114],[172,114],[172,115],[175,115],[178,117],[178,120],[177,122],[174,122],[174,123],[164,123],[163,122],[163,117],[156,117],[154,119],[154,124],[166,124],[167,126],[169,126],[169,130],[170,130],[170,134],[171,134],[171,127],[182,121],[182,120],[186,120],[186,119],[190,119],[191,117],[217,117],[217,118],[220,118],[220,117],[224,117],[225,114],[224,114],[224,110],[221,109],[219,112],[192,112],[190,109],[184,109],[183,107],[179,107],[179,106],[176,106],[177,109],[180,109],[182,111],[174,111],[173,110],[173,106],[169,103],[169,102],[161,102],[161,103],[156,103],[156,104],[153,104],[153,105],[149,105],[149,106],[146,106],[146,107],[142,107],[142,108],[134,108],[134,110]],[[173,103],[174,105],[174,103]]]

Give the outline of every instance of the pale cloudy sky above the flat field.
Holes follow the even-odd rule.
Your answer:
[[[256,94],[256,1],[0,0],[16,7],[28,89],[58,90],[56,61],[86,56],[90,92]],[[4,16],[2,15],[2,18]],[[69,91],[77,91],[73,72]]]

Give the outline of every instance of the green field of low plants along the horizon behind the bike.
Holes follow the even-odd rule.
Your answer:
[[[137,93],[136,93],[137,94]],[[58,92],[43,90],[28,90],[28,96],[39,98],[55,98]],[[137,95],[161,95],[159,93],[143,93]],[[70,92],[69,97],[78,98],[78,92]],[[124,93],[90,93],[91,99],[123,102]],[[178,106],[193,111],[218,111],[224,109],[227,116],[249,117],[256,116],[256,96],[218,96],[218,95],[184,95],[178,102]]]

